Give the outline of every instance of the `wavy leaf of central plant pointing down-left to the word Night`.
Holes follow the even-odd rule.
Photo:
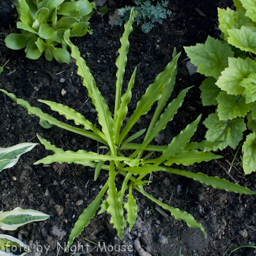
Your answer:
[[[84,227],[87,227],[90,223],[90,220],[95,216],[95,212],[99,208],[100,200],[102,196],[106,193],[108,189],[108,182],[104,185],[104,187],[100,190],[99,194],[93,200],[93,202],[84,209],[83,213],[79,216],[76,221],[74,228],[72,229],[70,236],[68,237],[67,247],[65,248],[65,252],[68,247],[73,243],[74,239],[81,234]]]

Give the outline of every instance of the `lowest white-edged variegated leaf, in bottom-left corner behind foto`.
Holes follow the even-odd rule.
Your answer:
[[[16,249],[16,253],[13,251]],[[22,243],[19,239],[0,234],[0,255],[1,256],[24,256],[29,253],[29,246]]]

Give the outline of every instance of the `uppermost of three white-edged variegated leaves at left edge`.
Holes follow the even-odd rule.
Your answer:
[[[32,150],[38,143],[19,143],[8,148],[0,148],[0,172],[12,168],[20,156]]]

